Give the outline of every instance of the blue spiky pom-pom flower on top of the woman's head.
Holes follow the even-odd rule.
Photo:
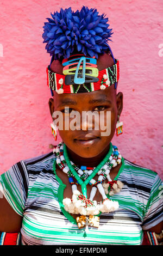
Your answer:
[[[75,13],[68,9],[60,9],[51,13],[52,19],[47,18],[43,26],[42,38],[46,50],[54,59],[69,58],[74,50],[87,57],[98,59],[99,53],[108,50],[108,41],[112,35],[108,18],[98,15],[97,9],[82,7]]]

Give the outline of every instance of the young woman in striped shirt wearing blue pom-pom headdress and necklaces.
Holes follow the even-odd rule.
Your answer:
[[[118,60],[108,45],[108,19],[85,7],[76,13],[61,9],[52,18],[43,39],[52,55],[47,70],[52,132],[61,142],[1,175],[0,243],[141,245],[144,238],[156,244],[162,182],[111,143],[123,94],[116,92]],[[85,112],[95,114],[91,121]],[[117,129],[122,132],[121,124]]]

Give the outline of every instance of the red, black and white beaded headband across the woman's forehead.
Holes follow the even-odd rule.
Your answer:
[[[59,75],[47,68],[47,86],[55,90],[58,94],[62,93],[85,93],[95,90],[105,89],[112,84],[118,82],[120,71],[119,61],[115,59],[116,64],[107,69],[98,72],[98,82],[83,83],[83,84],[65,84],[65,75]]]

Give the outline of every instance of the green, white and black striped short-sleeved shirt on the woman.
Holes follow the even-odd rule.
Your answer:
[[[76,220],[62,210],[64,185],[54,175],[54,160],[53,152],[22,160],[0,176],[4,197],[23,217],[22,245],[141,245],[143,230],[162,221],[158,174],[122,157],[115,179],[124,186],[110,197],[120,207],[102,213],[98,229],[78,229]]]

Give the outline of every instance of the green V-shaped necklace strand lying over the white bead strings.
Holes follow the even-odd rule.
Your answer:
[[[82,179],[80,179],[80,176],[77,174],[76,170],[74,170],[70,159],[68,157],[67,154],[67,148],[66,145],[64,143],[64,157],[65,157],[65,161],[67,163],[67,166],[69,167],[69,169],[71,170],[72,174],[74,175],[74,177],[76,178],[76,180],[79,182],[79,184],[82,187],[82,193],[83,195],[87,198],[86,196],[86,185],[89,184],[90,180],[93,179],[93,177],[98,173],[98,171],[104,166],[104,164],[106,163],[106,161],[108,161],[109,157],[112,154],[112,143],[110,142],[109,144],[109,152],[108,154],[106,154],[106,156],[104,157],[104,159],[101,161],[101,163],[98,164],[98,166],[93,170],[93,172],[91,173],[91,175],[85,180],[83,181]]]

